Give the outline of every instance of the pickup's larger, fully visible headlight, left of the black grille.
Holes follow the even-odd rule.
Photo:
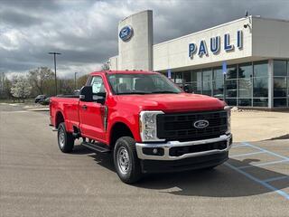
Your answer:
[[[143,142],[163,141],[157,137],[156,116],[163,111],[141,111],[139,115],[139,132]]]

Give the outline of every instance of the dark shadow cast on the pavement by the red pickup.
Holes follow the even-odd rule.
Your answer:
[[[85,149],[85,150],[84,150]],[[77,153],[79,152],[79,153]],[[94,158],[98,165],[116,172],[114,168],[113,157],[111,154],[95,154],[84,147],[75,150],[76,155],[89,155]],[[250,165],[252,162],[258,162],[259,159],[247,158],[242,161],[229,159],[230,165]],[[280,177],[284,174],[275,171],[251,166],[258,176]],[[245,175],[232,170],[226,165],[219,165],[211,170],[195,170],[172,174],[154,174],[144,175],[144,178],[135,187],[144,189],[159,190],[162,193],[172,193],[184,196],[208,196],[208,197],[240,197],[269,193],[272,190],[258,184]],[[273,185],[273,184],[272,184]],[[276,189],[289,187],[289,182],[274,184]]]

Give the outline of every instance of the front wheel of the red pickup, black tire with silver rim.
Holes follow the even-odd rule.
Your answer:
[[[122,160],[127,158],[126,160]],[[120,137],[117,139],[114,149],[114,163],[117,175],[126,184],[133,184],[142,177],[140,160],[135,150],[135,140],[132,137]]]

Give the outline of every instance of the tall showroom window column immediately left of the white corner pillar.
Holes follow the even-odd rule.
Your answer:
[[[253,106],[268,107],[268,61],[253,62]]]

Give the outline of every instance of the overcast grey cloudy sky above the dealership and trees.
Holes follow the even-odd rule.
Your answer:
[[[289,20],[288,0],[0,0],[0,72],[39,66],[60,76],[97,71],[117,55],[117,24],[130,14],[154,11],[154,43],[223,24],[249,14]]]

